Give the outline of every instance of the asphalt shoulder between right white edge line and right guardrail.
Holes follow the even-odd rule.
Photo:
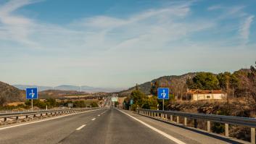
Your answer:
[[[215,133],[208,133],[203,130],[194,129],[192,127],[184,127],[181,124],[175,124],[170,122],[161,122],[158,119],[152,119],[144,117],[139,114],[135,114],[132,111],[121,110],[126,114],[136,117],[136,119],[149,124],[152,127],[161,130],[176,137],[178,140],[183,140],[184,143],[247,143],[242,140],[237,140],[231,137],[225,137]]]

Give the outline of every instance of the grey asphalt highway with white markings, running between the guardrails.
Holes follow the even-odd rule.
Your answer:
[[[240,143],[118,109],[52,118],[0,127],[0,143]]]

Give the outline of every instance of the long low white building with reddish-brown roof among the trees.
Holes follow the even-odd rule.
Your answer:
[[[220,100],[227,97],[226,93],[222,90],[189,90],[192,101],[199,100]]]

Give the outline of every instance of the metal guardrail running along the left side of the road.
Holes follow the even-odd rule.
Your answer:
[[[0,119],[4,119],[4,122],[7,121],[7,118],[15,118],[19,119],[19,117],[26,117],[33,116],[40,114],[41,117],[43,114],[69,114],[75,113],[80,111],[86,111],[90,109],[100,109],[100,108],[80,108],[80,109],[49,109],[49,110],[39,110],[39,111],[17,111],[17,112],[9,112],[9,113],[0,113]]]

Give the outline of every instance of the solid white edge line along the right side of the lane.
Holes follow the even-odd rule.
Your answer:
[[[117,110],[120,111],[119,109],[117,109]],[[150,129],[154,130],[155,132],[160,133],[161,135],[167,137],[168,139],[173,140],[173,142],[175,142],[175,143],[178,143],[178,144],[186,144],[186,143],[183,143],[181,140],[178,140],[177,138],[172,137],[172,136],[168,135],[167,133],[162,132],[161,130],[158,130],[157,128],[152,127],[151,125],[146,124],[145,122],[142,122],[142,121],[139,120],[139,119],[136,119],[135,117],[131,116],[130,114],[127,114],[127,113],[125,113],[125,112],[123,112],[123,111],[120,111],[120,112],[122,112],[123,114],[128,115],[128,117],[131,117],[131,118],[135,119],[135,120],[138,121],[138,122],[141,122],[141,124],[144,124],[146,127],[149,127]]]

